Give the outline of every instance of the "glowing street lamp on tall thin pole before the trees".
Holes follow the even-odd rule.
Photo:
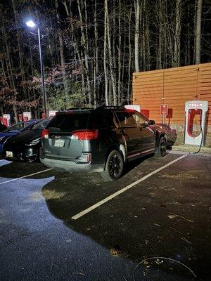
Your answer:
[[[30,28],[37,27],[38,41],[39,41],[39,61],[40,61],[40,70],[41,70],[41,85],[42,85],[42,94],[43,94],[43,107],[44,107],[45,116],[47,117],[47,112],[46,112],[46,91],[45,91],[45,84],[44,84],[44,67],[43,67],[42,53],[41,53],[40,30],[39,30],[39,26],[37,26],[33,22],[33,20],[28,20],[26,22],[26,25],[27,25],[27,27],[30,27]]]

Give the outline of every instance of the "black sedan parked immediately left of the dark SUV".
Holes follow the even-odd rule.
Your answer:
[[[8,138],[4,143],[3,157],[10,161],[34,162],[39,160],[41,131],[49,124],[51,117],[41,120],[27,131]]]

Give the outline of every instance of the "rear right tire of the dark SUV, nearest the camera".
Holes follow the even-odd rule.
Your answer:
[[[122,176],[124,160],[122,154],[117,150],[112,150],[106,159],[105,170],[101,173],[105,181],[115,181]]]

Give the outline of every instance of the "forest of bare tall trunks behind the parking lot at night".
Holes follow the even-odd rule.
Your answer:
[[[1,0],[0,115],[124,105],[132,73],[211,61],[211,0]]]

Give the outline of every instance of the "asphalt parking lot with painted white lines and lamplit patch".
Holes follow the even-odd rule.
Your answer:
[[[0,280],[210,280],[209,155],[169,153],[124,176],[0,160]]]

